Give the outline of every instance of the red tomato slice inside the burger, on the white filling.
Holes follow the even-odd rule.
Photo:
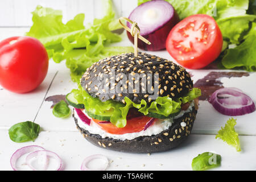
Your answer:
[[[100,126],[102,130],[108,133],[122,135],[126,133],[135,133],[135,132],[142,131],[144,129],[144,126],[146,126],[146,123],[150,121],[150,119],[151,118],[147,116],[140,116],[136,118],[127,119],[126,126],[121,128],[116,127],[112,123],[99,123],[102,121],[93,119],[93,118],[92,118],[92,121],[97,123],[97,125]],[[153,124],[154,123],[152,123],[152,125]]]

